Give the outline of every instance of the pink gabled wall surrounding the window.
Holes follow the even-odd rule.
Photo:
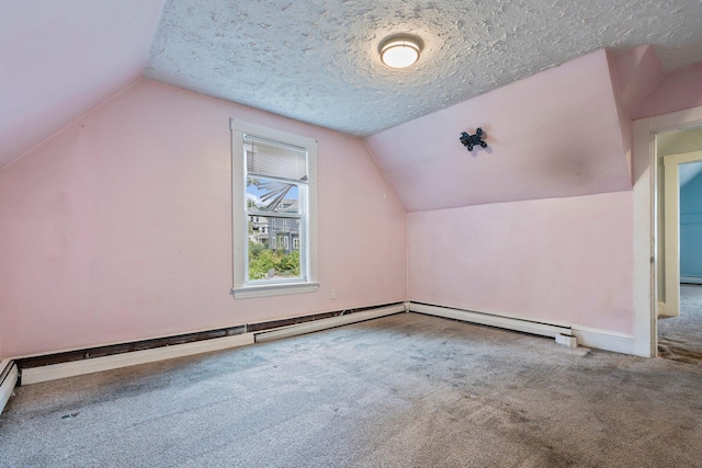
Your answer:
[[[230,117],[318,140],[315,294],[229,293]],[[0,171],[0,259],[2,355],[407,296],[405,210],[362,140],[149,80]]]

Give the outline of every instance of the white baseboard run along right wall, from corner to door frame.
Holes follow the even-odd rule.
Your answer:
[[[471,310],[453,309],[449,307],[429,306],[410,303],[410,311],[444,317],[471,323],[497,327],[506,330],[521,331],[541,336],[556,338],[558,334],[575,336],[578,346],[595,347],[623,354],[636,354],[634,336],[626,333],[592,329],[580,326],[564,327],[559,324],[532,322],[514,317],[503,317],[494,313],[474,312]],[[563,340],[563,339],[562,339]]]

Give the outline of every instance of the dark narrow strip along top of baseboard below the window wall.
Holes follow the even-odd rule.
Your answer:
[[[313,313],[309,316],[294,317],[282,320],[271,320],[267,322],[247,323],[242,326],[207,330],[195,333],[178,334],[173,336],[156,338],[151,340],[134,341],[129,343],[111,344],[106,346],[86,347],[82,350],[66,351],[63,353],[44,354],[33,357],[20,357],[14,359],[18,369],[47,366],[52,364],[69,363],[75,361],[90,359],[92,357],[111,356],[114,354],[131,353],[134,351],[152,350],[156,347],[172,346],[176,344],[193,343],[196,341],[212,340],[215,338],[231,336],[247,332],[260,332],[281,327],[294,326],[297,323],[310,322],[314,320],[328,319],[348,313],[362,312],[364,310],[378,309],[382,307],[397,306],[404,303],[392,303],[380,306],[359,307],[355,309],[343,309],[332,312]],[[11,366],[9,366],[10,368]],[[9,369],[8,369],[9,372]],[[1,381],[1,380],[0,380]]]

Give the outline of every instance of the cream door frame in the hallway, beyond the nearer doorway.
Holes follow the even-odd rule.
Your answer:
[[[658,313],[680,315],[680,164],[702,161],[702,151],[664,156],[666,300]]]

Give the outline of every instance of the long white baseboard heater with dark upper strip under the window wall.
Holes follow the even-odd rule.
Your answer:
[[[37,384],[173,357],[245,346],[406,311],[405,303],[247,323],[132,343],[15,358],[18,385]],[[14,387],[14,386],[13,386]]]

